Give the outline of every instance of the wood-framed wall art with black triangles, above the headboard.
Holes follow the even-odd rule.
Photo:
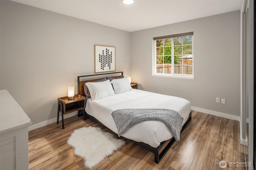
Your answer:
[[[94,45],[95,73],[116,71],[116,47]]]

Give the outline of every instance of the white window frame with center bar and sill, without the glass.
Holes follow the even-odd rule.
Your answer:
[[[188,33],[184,33],[184,34],[188,34]],[[156,37],[153,39],[153,50],[152,50],[152,76],[161,76],[161,77],[172,77],[172,78],[184,78],[184,79],[194,79],[194,35],[192,33],[192,74],[174,74],[174,43],[173,43],[173,38],[174,37],[183,37],[186,35],[183,34],[176,34],[176,35],[168,35],[168,36],[163,36],[163,37]],[[171,74],[166,74],[166,73],[157,73],[156,72],[156,40],[160,40],[160,39],[167,39],[167,38],[171,38],[172,40],[172,73]],[[182,44],[182,48],[183,48],[183,44]],[[183,53],[183,50],[182,50]],[[182,69],[183,70],[183,69]]]

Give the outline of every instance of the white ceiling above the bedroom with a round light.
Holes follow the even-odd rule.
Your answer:
[[[102,25],[138,31],[240,10],[242,0],[12,0]]]

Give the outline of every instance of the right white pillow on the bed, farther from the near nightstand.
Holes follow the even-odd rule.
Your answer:
[[[128,77],[114,79],[111,81],[111,83],[113,85],[115,93],[122,93],[132,89]]]

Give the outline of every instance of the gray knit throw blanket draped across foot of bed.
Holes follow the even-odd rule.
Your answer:
[[[183,117],[171,109],[118,109],[112,112],[120,137],[129,128],[143,121],[161,121],[171,131],[174,139],[180,141]]]

